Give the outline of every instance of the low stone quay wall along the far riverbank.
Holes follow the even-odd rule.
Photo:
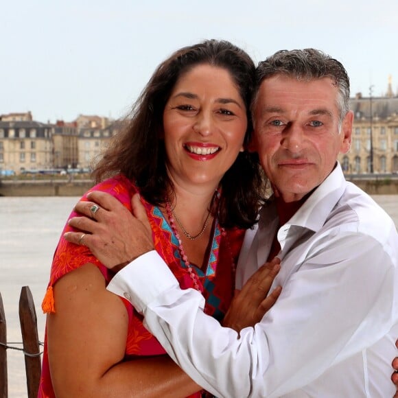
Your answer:
[[[398,195],[398,178],[350,179],[369,195]],[[2,180],[0,196],[82,196],[92,180]]]

